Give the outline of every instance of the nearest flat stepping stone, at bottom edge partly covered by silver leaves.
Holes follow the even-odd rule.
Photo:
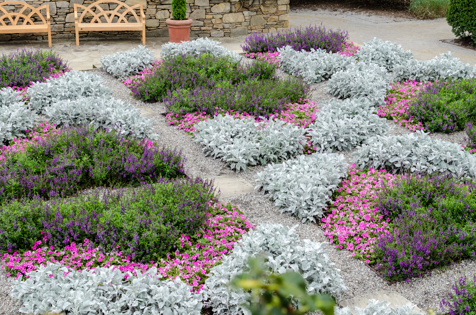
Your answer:
[[[360,296],[360,297],[347,299],[347,300],[339,302],[339,304],[342,307],[350,308],[350,311],[353,314],[355,314],[356,311],[355,311],[354,307],[357,306],[357,307],[360,307],[360,308],[367,308],[367,303],[368,303],[368,300],[370,300],[370,299],[375,299],[375,300],[378,300],[378,301],[387,301],[387,302],[391,303],[391,305],[390,305],[391,308],[395,308],[395,306],[397,306],[397,305],[402,306],[402,305],[405,305],[408,302],[410,302],[409,300],[407,300],[406,298],[404,298],[403,296],[399,295],[396,292],[388,291],[388,290],[381,290],[381,291],[373,292],[373,293],[366,294],[366,295],[363,295],[363,296]],[[415,305],[415,304],[413,304],[413,305]],[[413,312],[414,313],[425,314],[425,312],[423,312],[418,307],[414,307]]]

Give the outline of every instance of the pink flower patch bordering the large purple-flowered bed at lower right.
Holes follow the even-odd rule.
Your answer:
[[[324,235],[338,250],[352,251],[352,256],[373,264],[374,246],[380,234],[392,231],[390,219],[378,209],[382,187],[391,187],[395,175],[370,168],[362,171],[355,165],[333,196],[329,214],[321,219]]]

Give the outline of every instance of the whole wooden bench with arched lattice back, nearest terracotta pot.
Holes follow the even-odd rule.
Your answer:
[[[100,5],[103,3],[115,3],[117,7],[112,10],[104,10]],[[96,10],[93,10],[93,8]],[[121,9],[123,7],[123,9]],[[78,8],[83,9],[83,13],[78,18]],[[140,18],[137,16],[134,9],[140,8]],[[121,11],[121,12],[119,12]],[[136,22],[129,22],[126,15],[132,14]],[[83,18],[91,17],[91,22],[83,23]],[[117,16],[117,21],[113,21]],[[123,21],[123,22],[122,22]],[[88,7],[74,4],[74,28],[76,29],[76,45],[79,46],[79,32],[80,31],[140,31],[142,37],[142,44],[145,45],[145,14],[142,9],[142,4],[137,4],[132,7],[117,0],[99,0],[90,4]]]

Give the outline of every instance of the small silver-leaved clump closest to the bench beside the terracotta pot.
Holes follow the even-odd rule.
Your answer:
[[[131,50],[101,57],[101,68],[114,77],[127,77],[150,67],[153,62],[154,52],[139,45]]]

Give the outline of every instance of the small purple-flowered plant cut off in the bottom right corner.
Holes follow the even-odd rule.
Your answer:
[[[441,310],[449,315],[476,314],[476,276],[472,279],[462,276],[451,287],[454,293],[449,293],[449,298],[441,301]]]

